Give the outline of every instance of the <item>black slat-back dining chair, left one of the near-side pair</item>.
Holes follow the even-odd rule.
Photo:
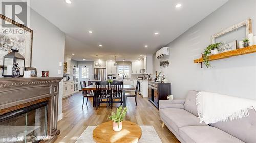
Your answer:
[[[96,110],[100,103],[106,103],[109,106],[109,83],[108,82],[95,82],[96,85]],[[103,101],[105,99],[106,101]]]

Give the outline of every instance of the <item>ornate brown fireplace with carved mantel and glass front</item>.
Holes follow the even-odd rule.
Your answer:
[[[0,143],[51,143],[62,77],[0,78]]]

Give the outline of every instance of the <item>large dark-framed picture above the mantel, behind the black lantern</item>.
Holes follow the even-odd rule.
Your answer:
[[[0,14],[0,19],[0,67],[3,67],[3,57],[10,53],[14,46],[24,56],[25,66],[31,67],[33,30],[2,14]],[[13,26],[4,27],[3,22]]]

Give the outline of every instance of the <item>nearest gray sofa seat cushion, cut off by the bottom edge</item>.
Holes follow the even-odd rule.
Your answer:
[[[211,126],[186,126],[179,130],[185,142],[197,143],[240,143],[243,142],[232,135]]]

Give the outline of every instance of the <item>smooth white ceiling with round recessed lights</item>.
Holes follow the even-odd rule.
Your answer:
[[[65,36],[65,55],[77,61],[134,60],[153,54],[227,0],[36,0],[30,6]],[[182,4],[176,8],[177,4]],[[92,31],[93,33],[89,33]],[[159,32],[155,35],[155,32]],[[102,47],[99,47],[99,45]],[[145,47],[148,45],[148,47]],[[172,47],[170,47],[172,48]],[[74,53],[75,55],[72,55]]]

